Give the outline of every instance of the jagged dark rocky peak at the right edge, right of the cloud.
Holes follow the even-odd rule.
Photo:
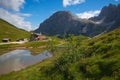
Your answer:
[[[95,22],[101,22],[101,26],[105,28],[106,31],[111,31],[120,26],[120,4],[105,6],[102,8],[101,13],[97,17],[90,18],[90,20]]]

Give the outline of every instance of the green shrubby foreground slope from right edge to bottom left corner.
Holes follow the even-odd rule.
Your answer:
[[[53,57],[1,80],[120,80],[120,28],[95,38],[71,36]]]

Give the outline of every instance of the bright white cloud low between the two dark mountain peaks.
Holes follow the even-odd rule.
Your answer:
[[[100,10],[96,10],[96,11],[86,11],[83,13],[77,13],[76,15],[82,19],[89,19],[90,17],[97,16],[99,13],[100,13]]]

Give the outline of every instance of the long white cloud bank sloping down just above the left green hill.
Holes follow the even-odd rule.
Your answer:
[[[21,15],[19,15],[21,14]],[[28,21],[25,21],[25,17],[24,16],[30,16],[30,14],[22,14],[22,13],[19,13],[19,14],[13,14],[13,13],[10,13],[8,11],[6,11],[5,9],[3,8],[0,8],[0,18],[8,21],[9,23],[19,27],[19,28],[22,28],[22,29],[25,29],[25,30],[31,30],[32,26],[31,26],[31,23],[28,22]]]

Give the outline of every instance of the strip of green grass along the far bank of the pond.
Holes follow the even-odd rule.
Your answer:
[[[46,49],[48,50],[53,49],[50,47],[58,46],[61,44],[61,42],[63,41],[59,41],[56,38],[55,39],[52,38],[52,40],[41,41],[41,42],[32,41],[24,44],[4,44],[4,45],[0,45],[0,55],[14,49],[21,49],[22,47],[25,49],[29,49],[33,53],[33,55],[36,55]]]

